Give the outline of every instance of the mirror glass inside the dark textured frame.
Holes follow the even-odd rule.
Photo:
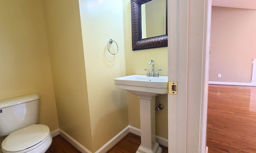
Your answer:
[[[141,4],[142,39],[166,34],[166,0],[151,0]]]

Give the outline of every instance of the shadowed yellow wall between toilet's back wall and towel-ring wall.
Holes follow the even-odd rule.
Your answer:
[[[60,129],[92,150],[78,0],[42,2]]]

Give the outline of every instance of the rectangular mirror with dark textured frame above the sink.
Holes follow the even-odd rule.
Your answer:
[[[167,47],[167,0],[131,0],[132,50]]]

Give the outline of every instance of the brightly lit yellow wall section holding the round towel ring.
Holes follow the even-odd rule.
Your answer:
[[[114,78],[126,75],[123,8],[120,0],[79,0],[93,152],[128,126],[126,91]],[[107,49],[114,39],[119,51]],[[116,51],[113,43],[110,48]]]

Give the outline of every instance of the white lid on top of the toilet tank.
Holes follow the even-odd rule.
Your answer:
[[[21,104],[24,102],[30,102],[30,101],[37,100],[37,99],[39,99],[38,94],[28,94],[28,95],[24,95],[24,96],[15,97],[15,98],[0,100],[0,109],[9,107],[9,106],[13,106],[16,104]]]

